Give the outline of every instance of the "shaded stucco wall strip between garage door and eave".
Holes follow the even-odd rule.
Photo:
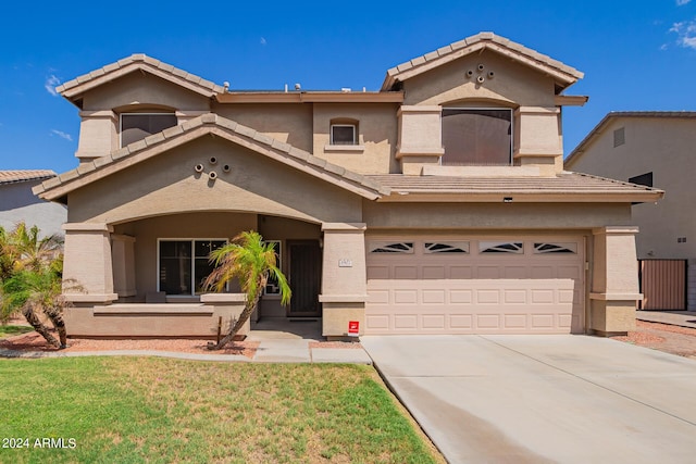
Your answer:
[[[364,202],[364,220],[375,228],[587,229],[629,224],[621,203],[374,203]]]

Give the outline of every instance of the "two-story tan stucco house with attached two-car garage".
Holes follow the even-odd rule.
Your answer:
[[[35,192],[70,204],[69,331],[211,336],[241,296],[203,292],[208,253],[257,229],[293,288],[283,309],[269,285],[260,316],[330,338],[625,333],[631,203],[662,192],[563,172],[581,77],[482,33],[380,91],[233,91],[144,54],[65,83],[79,167]]]

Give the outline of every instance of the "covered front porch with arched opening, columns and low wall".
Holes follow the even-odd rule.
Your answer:
[[[115,225],[66,224],[69,335],[215,339],[244,310],[245,294],[234,284],[222,293],[202,287],[212,269],[208,253],[251,229],[274,243],[293,299],[282,306],[270,281],[241,336],[249,334],[250,323],[269,319],[320,321],[328,338],[345,337],[349,321],[364,326],[364,224],[196,212]]]

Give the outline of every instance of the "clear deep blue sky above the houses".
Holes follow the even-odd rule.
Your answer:
[[[564,109],[567,154],[609,111],[696,111],[696,0],[235,3],[5,3],[0,170],[76,167],[79,116],[53,87],[132,53],[232,89],[377,90],[389,67],[489,30],[585,73],[566,91],[589,96]]]

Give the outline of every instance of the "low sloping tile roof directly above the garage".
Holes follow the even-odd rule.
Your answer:
[[[607,179],[587,174],[563,172],[556,177],[455,177],[371,175],[371,179],[391,189],[393,196],[469,195],[480,196],[636,196],[660,198],[662,190]],[[598,198],[599,199],[599,198]],[[629,200],[631,201],[631,200]]]

